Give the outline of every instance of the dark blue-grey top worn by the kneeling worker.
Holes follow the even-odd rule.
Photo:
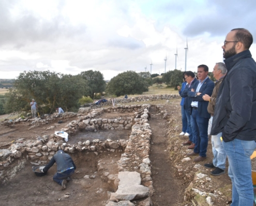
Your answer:
[[[43,168],[44,173],[47,173],[48,169],[56,162],[57,164],[57,172],[63,173],[67,169],[74,168],[76,169],[76,165],[74,164],[72,158],[65,153],[63,150],[58,150],[57,153],[52,157],[50,162]]]

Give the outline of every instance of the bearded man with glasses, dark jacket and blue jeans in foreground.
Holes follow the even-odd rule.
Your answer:
[[[228,73],[217,95],[211,131],[212,135],[222,132],[232,180],[231,205],[253,204],[250,156],[256,148],[256,63],[249,51],[252,41],[243,28],[231,30],[224,41]]]

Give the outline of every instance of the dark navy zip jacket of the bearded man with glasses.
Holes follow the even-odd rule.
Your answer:
[[[256,63],[249,50],[224,60],[228,73],[217,95],[213,135],[224,142],[256,140]]]

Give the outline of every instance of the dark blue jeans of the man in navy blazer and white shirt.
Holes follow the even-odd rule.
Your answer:
[[[191,127],[193,132],[194,152],[206,157],[208,146],[208,118],[201,117],[197,109],[192,108]]]

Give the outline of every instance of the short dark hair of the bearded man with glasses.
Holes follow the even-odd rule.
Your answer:
[[[244,28],[236,28],[232,29],[231,31],[236,31],[234,41],[242,42],[245,46],[245,49],[250,48],[253,42],[253,38],[250,31]]]

